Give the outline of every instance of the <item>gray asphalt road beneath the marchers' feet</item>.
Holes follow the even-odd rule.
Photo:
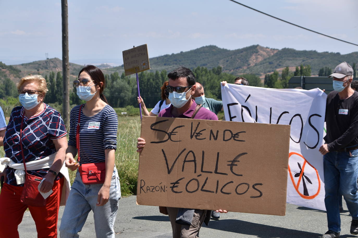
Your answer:
[[[347,207],[341,213],[341,238],[358,237],[349,233],[351,217]],[[59,221],[63,208],[60,208]],[[286,216],[229,212],[218,221],[200,229],[200,237],[235,238],[318,238],[327,231],[326,213],[305,207],[287,204]],[[115,223],[116,237],[171,237],[168,216],[159,213],[158,207],[136,205],[136,196],[121,198]],[[35,223],[29,212],[24,214],[19,226],[21,238],[35,238]],[[80,237],[95,237],[93,215],[90,213]]]

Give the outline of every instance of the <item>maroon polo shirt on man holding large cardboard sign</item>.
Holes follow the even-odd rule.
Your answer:
[[[191,118],[193,113],[195,112],[195,107],[197,107],[197,103],[192,100],[192,106],[188,109],[188,111],[184,112],[182,115],[178,116],[177,118]],[[170,107],[161,110],[158,114],[158,117],[174,117],[171,114],[171,110],[173,109],[173,104]],[[218,117],[214,112],[209,111],[208,109],[202,107],[198,111],[197,115],[195,115],[194,119],[203,119],[203,120],[216,120],[218,121]]]

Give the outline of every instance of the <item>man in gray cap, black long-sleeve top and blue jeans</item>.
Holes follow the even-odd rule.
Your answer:
[[[347,62],[337,65],[331,76],[334,91],[327,96],[326,144],[319,148],[328,222],[323,238],[340,237],[339,194],[352,215],[350,233],[358,234],[358,92],[350,87],[353,69]]]

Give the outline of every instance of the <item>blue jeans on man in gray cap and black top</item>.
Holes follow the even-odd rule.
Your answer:
[[[358,219],[358,150],[329,152],[323,156],[324,203],[327,209],[328,229],[340,232],[339,195],[342,194],[348,211]]]

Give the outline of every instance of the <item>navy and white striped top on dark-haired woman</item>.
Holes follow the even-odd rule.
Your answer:
[[[77,148],[76,131],[80,107],[79,105],[72,108],[70,113],[68,145],[75,148]],[[81,110],[80,120],[79,162],[81,164],[105,162],[105,150],[117,149],[117,113],[111,106],[106,105],[100,112],[92,117],[85,116]]]

